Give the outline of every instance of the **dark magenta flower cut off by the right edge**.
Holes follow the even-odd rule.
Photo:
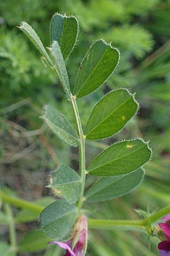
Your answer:
[[[159,243],[158,250],[160,256],[170,256],[170,214],[162,218],[164,223],[159,223],[163,233],[163,241]]]

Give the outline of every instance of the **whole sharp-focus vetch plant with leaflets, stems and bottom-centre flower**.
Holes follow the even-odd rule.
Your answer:
[[[33,209],[40,214],[40,229],[66,250],[67,256],[86,254],[87,225],[89,228],[112,229],[124,227],[151,234],[152,224],[169,207],[146,216],[143,220],[98,220],[86,214],[84,201],[91,204],[125,195],[143,180],[143,166],[151,158],[148,143],[141,138],[116,142],[102,151],[86,166],[86,140],[95,141],[113,136],[124,128],[138,111],[138,103],[127,89],[112,90],[96,103],[88,117],[86,127],[82,127],[76,98],[82,98],[97,90],[116,69],[120,52],[103,39],[96,40],[88,49],[75,79],[74,90],[70,89],[65,60],[74,49],[78,38],[79,25],[74,16],[54,14],[50,23],[50,43],[47,49],[29,24],[19,26],[39,50],[44,63],[57,73],[63,91],[73,108],[76,130],[68,119],[53,106],[46,105],[43,119],[53,132],[70,146],[79,148],[79,172],[61,164],[50,176],[48,187],[58,199],[46,208],[27,203],[17,198],[11,199],[3,191],[3,201],[17,207]],[[63,159],[64,163],[64,159]],[[97,181],[86,188],[86,175],[96,176]],[[98,177],[99,176],[99,177]]]

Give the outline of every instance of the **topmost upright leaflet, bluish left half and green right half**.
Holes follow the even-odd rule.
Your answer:
[[[54,14],[50,22],[50,40],[57,41],[63,59],[67,59],[73,51],[78,37],[78,20],[74,16]]]

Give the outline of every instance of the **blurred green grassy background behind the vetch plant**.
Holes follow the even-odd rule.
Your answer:
[[[16,27],[28,22],[44,46],[49,46],[49,22],[56,12],[72,14],[80,24],[78,43],[66,63],[72,86],[79,63],[95,39],[104,38],[121,52],[120,64],[107,83],[78,101],[83,125],[95,102],[111,89],[136,92],[140,104],[137,117],[126,129],[111,139],[87,144],[87,164],[105,144],[124,138],[150,139],[154,152],[142,185],[120,199],[86,205],[91,217],[136,219],[134,209],[152,213],[165,207],[170,204],[169,0],[0,0],[0,182],[6,193],[45,205],[53,200],[45,188],[49,172],[58,163],[78,169],[77,149],[60,141],[39,118],[49,103],[74,125],[71,106],[56,74],[44,67],[35,47]],[[37,229],[36,217],[29,220],[31,213],[13,210],[18,241],[22,241],[19,256],[62,255],[57,246],[46,246],[42,233],[33,231],[25,237]],[[3,207],[0,224],[5,224]],[[0,240],[2,256],[14,255],[8,252],[8,225],[1,225]],[[156,238],[137,232],[94,230],[87,255],[153,256],[158,255],[157,243]]]

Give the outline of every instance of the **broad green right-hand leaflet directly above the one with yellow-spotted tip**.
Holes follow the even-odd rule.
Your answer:
[[[138,104],[128,90],[113,90],[95,105],[84,134],[87,139],[107,138],[120,131],[137,110]]]

